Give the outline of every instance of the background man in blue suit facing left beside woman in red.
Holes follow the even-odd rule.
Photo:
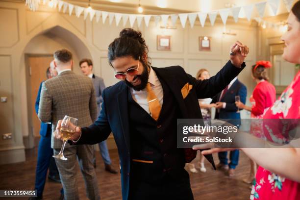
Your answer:
[[[247,97],[247,88],[241,83],[237,77],[235,77],[225,89],[216,95],[212,103],[216,103],[216,114],[215,119],[230,119],[230,122],[233,125],[241,125],[241,115],[238,111],[238,108],[235,105],[235,97],[240,96],[241,102],[246,102]],[[217,165],[218,169],[228,170],[228,175],[233,176],[236,166],[239,161],[239,150],[230,151],[230,163],[228,166],[227,152],[218,153],[220,163]]]

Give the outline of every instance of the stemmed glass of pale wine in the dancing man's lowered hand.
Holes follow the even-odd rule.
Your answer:
[[[77,126],[78,119],[65,116],[62,123],[61,127],[59,129],[59,132],[61,134],[61,137],[63,139],[63,145],[61,147],[60,152],[57,155],[53,155],[54,158],[61,159],[61,160],[68,160],[64,156],[64,148],[67,143],[67,141],[74,135],[75,133],[75,127]],[[58,131],[58,130],[55,130]]]

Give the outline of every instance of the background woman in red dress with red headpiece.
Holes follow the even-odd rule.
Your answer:
[[[262,119],[267,109],[273,105],[276,99],[276,91],[274,85],[269,82],[267,75],[267,68],[271,68],[270,61],[258,61],[256,65],[252,66],[251,76],[256,82],[256,86],[250,97],[252,106],[247,106],[241,101],[235,102],[236,106],[240,109],[245,109],[251,112],[252,119]],[[262,120],[253,120],[250,125],[250,133],[256,137],[264,139],[262,132]],[[246,183],[252,183],[256,174],[256,163],[250,159],[250,175],[244,179]]]

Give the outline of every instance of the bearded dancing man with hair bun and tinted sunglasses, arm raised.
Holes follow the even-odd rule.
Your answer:
[[[142,33],[123,29],[108,47],[115,78],[122,81],[103,91],[98,120],[76,127],[70,143],[95,144],[113,132],[124,200],[193,200],[184,165],[196,151],[176,148],[176,120],[201,119],[198,99],[221,92],[244,69],[248,52],[247,46],[236,42],[224,68],[201,81],[180,66],[152,67]],[[214,166],[212,155],[206,158]]]

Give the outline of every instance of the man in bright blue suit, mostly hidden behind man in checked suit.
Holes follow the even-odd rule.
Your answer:
[[[50,63],[50,67],[47,69],[47,79],[52,78],[57,75],[57,71],[54,69],[53,61]],[[43,81],[44,82],[44,81]],[[40,84],[39,92],[35,101],[35,111],[38,114],[39,103],[41,96],[42,84]],[[59,173],[55,164],[55,160],[52,157],[53,150],[51,149],[51,124],[41,123],[40,129],[40,142],[38,147],[38,159],[35,172],[35,190],[37,190],[36,198],[29,198],[30,200],[40,200],[43,199],[43,191],[45,187],[47,172],[49,168],[48,178],[55,182],[60,183]],[[63,193],[63,191],[61,191]]]

